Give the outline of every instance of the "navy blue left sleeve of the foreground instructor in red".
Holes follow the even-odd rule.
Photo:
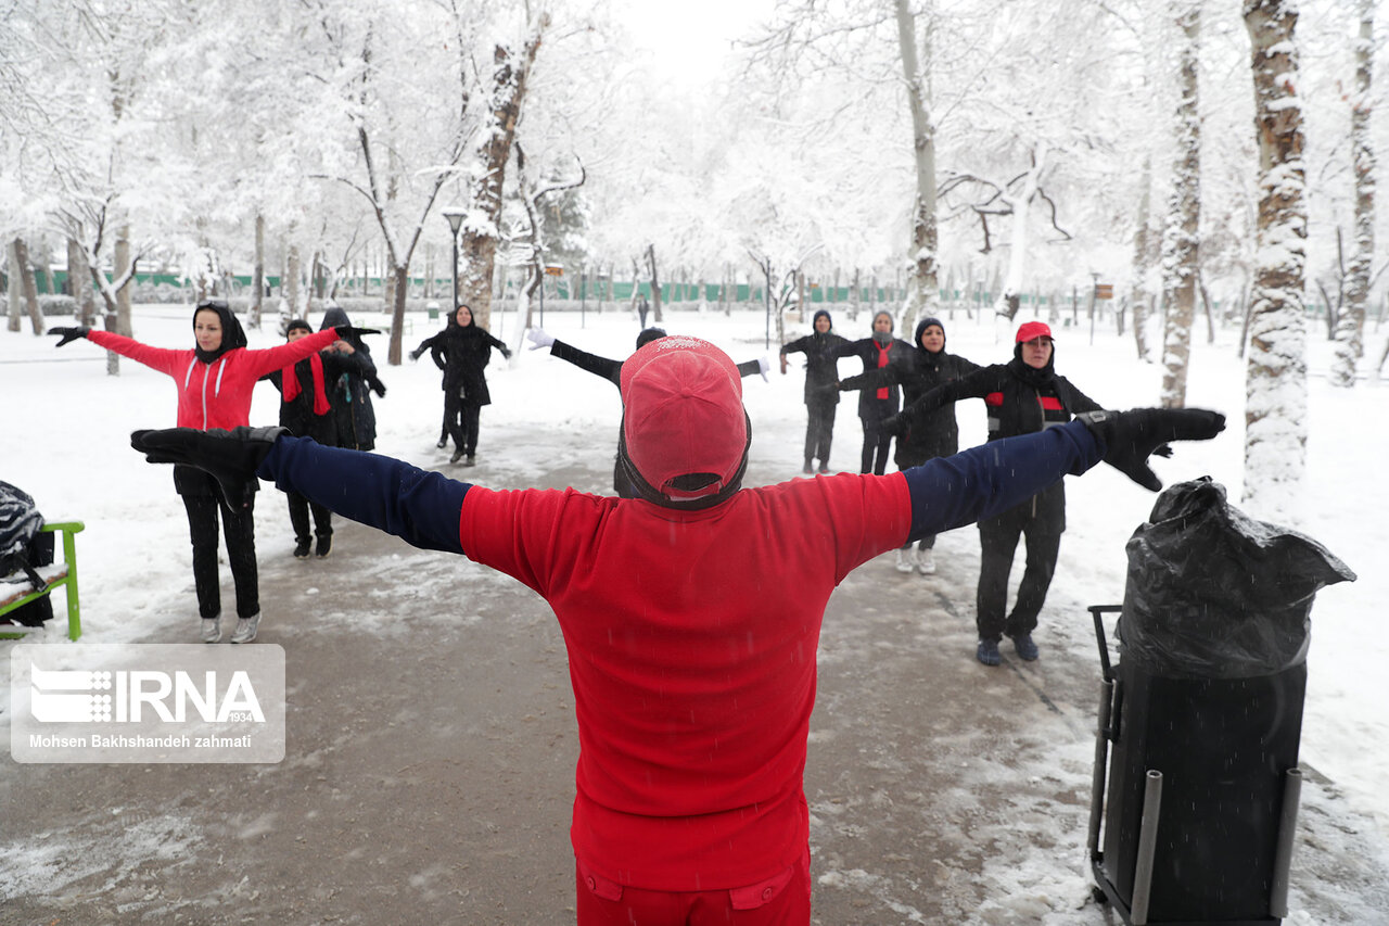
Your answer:
[[[256,476],[411,546],[463,552],[458,513],[471,482],[293,437],[275,441]]]

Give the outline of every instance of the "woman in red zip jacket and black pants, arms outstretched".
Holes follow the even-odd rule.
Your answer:
[[[151,348],[133,338],[86,328],[50,328],[63,335],[58,346],[88,341],[174,377],[178,387],[178,427],[235,428],[249,424],[256,381],[272,370],[293,366],[338,341],[336,330],[285,343],[268,350],[247,350],[246,332],[225,300],[197,303],[193,310],[196,346],[176,350]],[[217,482],[190,466],[174,467],[174,488],[188,509],[188,530],[193,544],[193,587],[203,619],[203,642],[222,638],[222,596],[217,571],[217,512],[222,512],[226,560],[236,585],[236,630],[232,642],[250,642],[260,624],[260,587],[256,573],[256,484],[249,482],[240,498],[222,498]]]

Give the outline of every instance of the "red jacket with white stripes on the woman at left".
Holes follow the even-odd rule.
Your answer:
[[[251,392],[257,380],[272,370],[299,363],[336,339],[338,330],[325,328],[275,348],[261,350],[233,348],[213,363],[203,363],[192,348],[182,350],[151,348],[110,331],[88,332],[88,341],[92,343],[174,377],[174,384],[178,387],[175,424],[199,431],[208,428],[229,431],[250,424]]]

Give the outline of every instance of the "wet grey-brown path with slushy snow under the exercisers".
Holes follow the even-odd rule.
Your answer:
[[[603,449],[493,435],[551,449],[528,481],[608,477]],[[544,605],[356,526],[331,559],[296,562],[272,491],[261,512],[275,602],[261,641],[285,647],[292,683],[286,761],[13,765],[0,919],[572,922],[576,737]],[[896,573],[892,555],[865,564],[825,619],[807,772],[815,922],[1117,922],[1089,901],[1088,615],[1050,610],[1040,662],[1004,647],[1006,665],[985,669],[971,655],[975,535],[938,548],[929,578]],[[1372,827],[1315,776],[1304,794],[1289,922],[1376,922],[1389,872],[1351,833]]]

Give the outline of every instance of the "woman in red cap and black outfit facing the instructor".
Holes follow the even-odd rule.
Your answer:
[[[888,423],[892,431],[918,427],[925,416],[960,399],[983,399],[989,410],[989,439],[999,441],[1065,424],[1082,412],[1099,412],[1100,405],[1076,389],[1056,368],[1051,328],[1040,321],[1018,327],[1013,360],[993,364],[938,387],[917,399]],[[1065,530],[1065,487],[1061,481],[1042,489],[1022,505],[979,521],[979,590],[975,595],[975,624],[979,644],[975,656],[986,666],[1001,660],[999,642],[1007,634],[1018,656],[1038,658],[1032,631],[1046,602]],[[1008,601],[1008,570],[1018,548],[1026,542],[1028,560],[1018,584],[1013,610]]]

